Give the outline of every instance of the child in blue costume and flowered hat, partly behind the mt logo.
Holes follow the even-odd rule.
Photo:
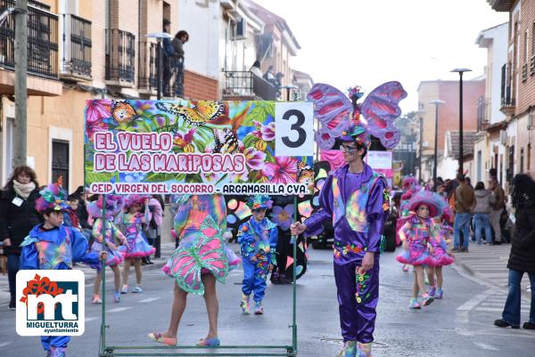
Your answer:
[[[76,229],[63,225],[63,213],[69,209],[66,194],[59,184],[50,184],[39,192],[37,211],[45,223],[37,224],[21,244],[21,270],[69,270],[73,263],[100,268],[106,252],[87,252],[87,240]],[[42,336],[47,357],[65,357],[69,336]]]

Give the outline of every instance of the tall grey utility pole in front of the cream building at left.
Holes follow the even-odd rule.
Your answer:
[[[27,70],[28,70],[28,1],[15,5],[15,158],[14,166],[26,165],[28,157]],[[11,163],[8,163],[11,165]]]

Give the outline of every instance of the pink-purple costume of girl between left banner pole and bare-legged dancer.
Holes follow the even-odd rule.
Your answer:
[[[125,209],[129,209],[136,204],[144,204],[144,200],[147,197],[139,195],[128,196],[125,202]],[[144,238],[144,224],[151,222],[151,211],[148,206],[144,207],[144,214],[136,212],[122,213],[118,215],[117,221],[123,227],[123,234],[127,238],[127,251],[125,259],[129,258],[141,258],[143,256],[151,256],[156,248],[147,243]]]

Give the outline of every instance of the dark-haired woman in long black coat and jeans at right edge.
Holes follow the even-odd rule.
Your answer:
[[[516,174],[513,179],[512,203],[516,215],[509,269],[509,292],[502,318],[494,321],[500,328],[520,328],[520,303],[523,273],[530,277],[535,286],[535,181],[527,174]],[[531,288],[530,320],[523,329],[535,329],[535,289]]]

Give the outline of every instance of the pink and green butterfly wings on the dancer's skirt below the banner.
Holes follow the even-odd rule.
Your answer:
[[[201,275],[207,271],[219,282],[225,283],[228,261],[223,250],[221,231],[210,215],[202,222],[201,230],[193,241],[185,246],[177,249],[170,259],[170,274],[177,280],[179,288],[203,295]]]

